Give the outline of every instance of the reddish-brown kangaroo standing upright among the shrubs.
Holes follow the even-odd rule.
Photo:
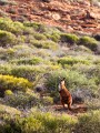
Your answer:
[[[60,93],[60,101],[63,108],[64,104],[68,104],[68,109],[71,110],[72,96],[66,88],[64,79],[61,80],[61,82],[59,83],[59,93]]]

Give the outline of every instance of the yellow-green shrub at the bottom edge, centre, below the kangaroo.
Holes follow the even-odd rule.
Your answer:
[[[31,116],[42,122],[43,132],[46,133],[71,133],[77,120],[69,115],[54,115],[53,113],[32,112]]]

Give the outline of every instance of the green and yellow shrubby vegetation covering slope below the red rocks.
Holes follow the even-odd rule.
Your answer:
[[[0,19],[0,133],[99,133],[99,41],[6,18]],[[47,113],[47,106],[59,102],[59,76],[66,78],[73,98],[82,99],[89,110],[97,111],[78,119]],[[7,105],[22,114],[11,115]],[[29,113],[32,108],[38,111]],[[98,125],[94,131],[93,123]]]

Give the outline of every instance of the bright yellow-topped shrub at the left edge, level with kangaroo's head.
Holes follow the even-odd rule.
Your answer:
[[[23,78],[14,78],[12,75],[0,74],[0,93],[3,96],[6,90],[20,90],[26,91],[28,88],[32,88],[32,83]]]

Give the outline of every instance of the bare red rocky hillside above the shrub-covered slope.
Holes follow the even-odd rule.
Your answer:
[[[98,0],[0,0],[0,17],[42,22],[62,28],[67,32],[100,32]]]

